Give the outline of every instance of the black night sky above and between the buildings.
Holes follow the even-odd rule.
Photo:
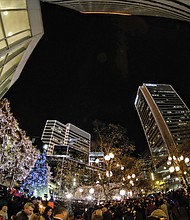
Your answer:
[[[99,119],[126,127],[142,152],[138,86],[171,84],[190,107],[190,23],[41,7],[44,36],[5,95],[28,136],[41,136],[47,119],[90,133]]]

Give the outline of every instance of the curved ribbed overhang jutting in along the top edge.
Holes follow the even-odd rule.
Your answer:
[[[157,16],[190,22],[190,0],[41,0],[81,13]]]

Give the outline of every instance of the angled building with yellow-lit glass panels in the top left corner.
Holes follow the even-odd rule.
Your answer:
[[[44,34],[39,0],[0,1],[0,98],[19,78]]]

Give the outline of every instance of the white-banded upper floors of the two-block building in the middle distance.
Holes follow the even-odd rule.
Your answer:
[[[54,154],[55,146],[69,146],[87,155],[90,152],[91,135],[70,123],[64,125],[56,120],[47,120],[41,139],[48,145],[49,156]]]

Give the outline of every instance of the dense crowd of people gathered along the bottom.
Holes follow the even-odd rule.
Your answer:
[[[101,205],[69,204],[7,193],[0,197],[0,220],[179,220],[182,209],[190,220],[190,197],[183,189]]]

